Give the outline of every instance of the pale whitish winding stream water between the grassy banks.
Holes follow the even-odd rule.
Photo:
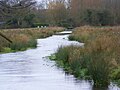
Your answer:
[[[92,83],[66,75],[62,69],[56,67],[54,61],[46,58],[61,45],[83,45],[68,41],[67,37],[68,35],[53,35],[38,39],[36,49],[0,54],[0,90],[93,90]],[[120,88],[110,85],[108,89],[94,90]]]

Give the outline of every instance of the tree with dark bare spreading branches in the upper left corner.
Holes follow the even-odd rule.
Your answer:
[[[34,0],[1,0],[0,16],[4,21],[13,20],[16,26],[20,26],[24,16],[30,11],[36,2]]]

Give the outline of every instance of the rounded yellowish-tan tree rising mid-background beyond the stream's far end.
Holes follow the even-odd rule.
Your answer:
[[[65,0],[55,0],[48,4],[48,18],[52,24],[58,24],[65,20],[67,16],[67,9]]]

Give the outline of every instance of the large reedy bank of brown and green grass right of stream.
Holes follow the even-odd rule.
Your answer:
[[[60,47],[54,56],[60,66],[95,87],[120,85],[120,27],[79,27],[69,39],[85,45]]]

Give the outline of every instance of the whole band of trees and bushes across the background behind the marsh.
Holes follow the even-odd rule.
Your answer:
[[[0,0],[3,28],[120,24],[120,0]]]

